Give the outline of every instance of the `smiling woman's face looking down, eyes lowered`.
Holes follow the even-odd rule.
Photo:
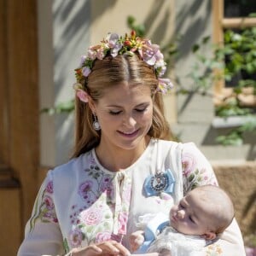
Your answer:
[[[119,84],[91,104],[102,127],[101,146],[134,149],[152,125],[153,102],[148,86]]]

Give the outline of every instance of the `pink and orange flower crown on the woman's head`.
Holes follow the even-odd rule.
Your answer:
[[[162,79],[166,72],[166,62],[164,55],[160,52],[157,44],[151,44],[151,41],[136,37],[136,32],[131,31],[131,36],[125,34],[125,38],[119,37],[116,33],[108,33],[101,44],[90,46],[87,55],[81,56],[80,65],[75,69],[77,83],[73,84],[76,95],[82,102],[88,102],[88,94],[83,90],[83,81],[90,75],[93,63],[96,59],[102,60],[107,54],[113,57],[117,55],[134,55],[138,53],[143,61],[149,66],[154,67],[154,72],[159,81],[157,91],[166,93],[171,90],[173,85],[170,79]]]

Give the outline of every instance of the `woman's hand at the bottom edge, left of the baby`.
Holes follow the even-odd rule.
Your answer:
[[[131,253],[117,241],[103,241],[98,244],[90,245],[84,248],[75,248],[72,251],[73,256],[128,256]]]

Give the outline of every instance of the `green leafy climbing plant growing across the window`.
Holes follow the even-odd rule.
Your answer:
[[[206,58],[200,54],[200,49],[206,44],[196,44],[193,48],[197,62],[189,76],[201,90],[208,90],[218,79],[224,79],[226,84],[233,84],[233,93],[223,99],[222,104],[216,106],[215,114],[219,117],[251,116],[255,118],[254,108],[247,108],[241,101],[241,94],[247,87],[253,89],[256,95],[256,27],[243,28],[240,31],[226,30],[224,45],[212,46],[212,56]],[[200,73],[200,65],[206,72]],[[216,72],[224,70],[224,72]],[[217,142],[224,145],[240,145],[246,132],[255,132],[255,122],[245,123],[233,128],[225,136],[217,137]]]

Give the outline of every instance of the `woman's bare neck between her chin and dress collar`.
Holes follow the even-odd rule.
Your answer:
[[[104,143],[100,143],[96,147],[96,156],[101,165],[106,169],[112,172],[119,172],[137,161],[147,148],[149,141],[150,137],[145,137],[136,148],[132,149],[106,147]]]

